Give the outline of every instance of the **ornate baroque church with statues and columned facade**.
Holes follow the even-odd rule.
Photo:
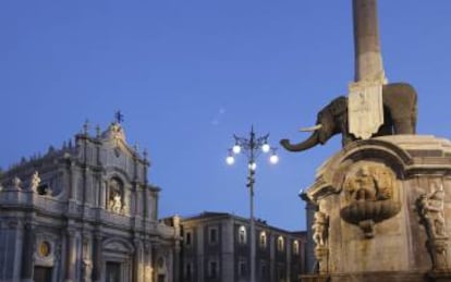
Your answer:
[[[180,230],[157,220],[148,168],[118,121],[5,171],[0,281],[179,281]]]

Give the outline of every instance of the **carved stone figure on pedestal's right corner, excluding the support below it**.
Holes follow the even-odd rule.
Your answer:
[[[419,213],[426,222],[426,228],[431,238],[447,237],[443,217],[444,192],[438,189],[430,195],[423,194],[418,198]]]

